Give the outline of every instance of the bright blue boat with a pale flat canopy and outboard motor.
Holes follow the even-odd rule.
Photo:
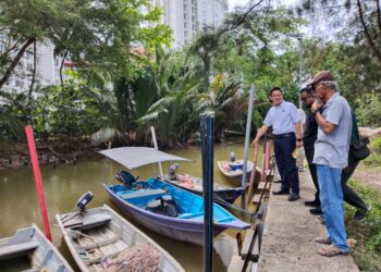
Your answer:
[[[186,160],[153,148],[142,147],[108,149],[100,153],[127,169],[155,162]],[[174,239],[202,245],[202,197],[159,178],[137,182],[132,177],[124,184],[103,186],[116,206],[147,228]],[[221,206],[213,203],[214,236],[226,228],[245,230],[249,226]]]

